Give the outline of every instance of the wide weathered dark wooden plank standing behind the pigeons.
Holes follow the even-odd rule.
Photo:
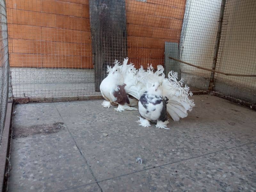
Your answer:
[[[95,91],[107,76],[107,66],[127,57],[125,0],[90,0]]]

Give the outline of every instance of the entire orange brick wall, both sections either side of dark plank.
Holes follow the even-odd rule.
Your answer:
[[[8,0],[11,67],[93,68],[89,0]],[[128,57],[164,64],[179,42],[185,0],[126,0]]]

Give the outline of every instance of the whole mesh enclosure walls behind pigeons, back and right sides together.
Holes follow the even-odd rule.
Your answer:
[[[107,65],[128,57],[136,68],[164,65],[192,89],[253,104],[256,77],[243,75],[256,73],[255,9],[253,0],[6,1],[13,96],[100,95]]]

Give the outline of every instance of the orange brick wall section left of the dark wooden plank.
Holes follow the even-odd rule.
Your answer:
[[[11,67],[93,68],[89,0],[8,0]]]

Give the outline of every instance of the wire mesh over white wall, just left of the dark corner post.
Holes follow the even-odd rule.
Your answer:
[[[220,5],[221,0],[187,0],[177,59],[212,68]],[[181,76],[190,87],[208,90],[211,72],[178,64]],[[176,68],[177,62],[170,65],[170,68]]]

